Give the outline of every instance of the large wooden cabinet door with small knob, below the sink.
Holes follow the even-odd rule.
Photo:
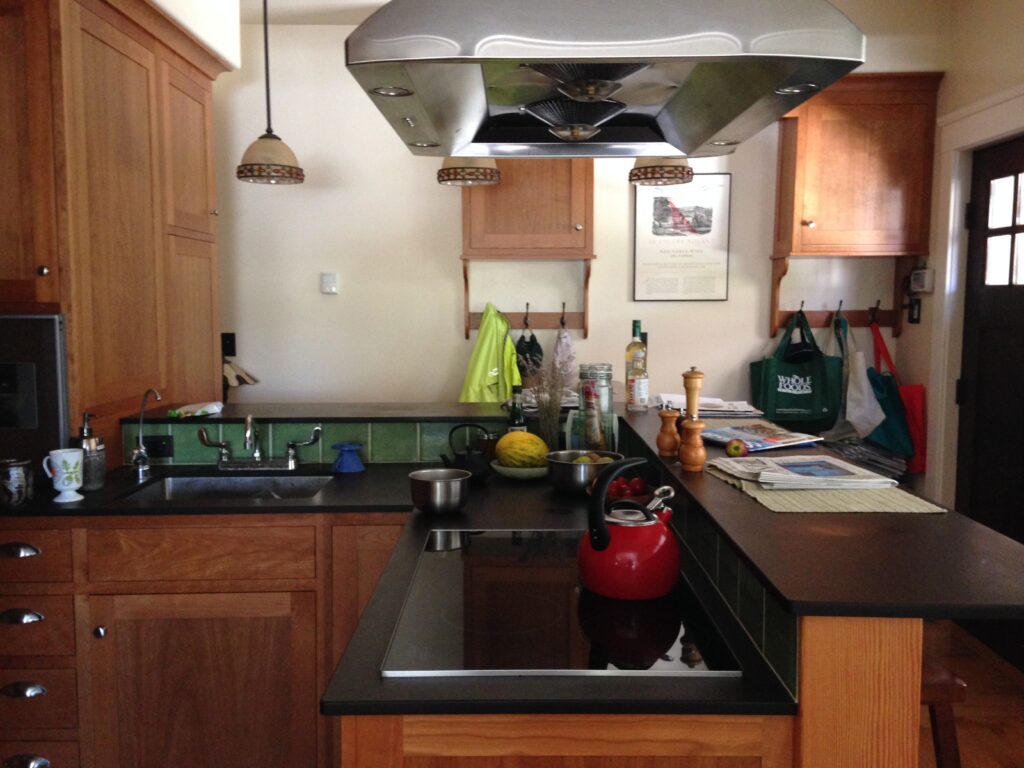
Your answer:
[[[315,766],[314,604],[312,592],[80,598],[88,764]]]

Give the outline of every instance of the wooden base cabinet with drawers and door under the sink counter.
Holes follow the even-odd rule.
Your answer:
[[[0,694],[0,765],[337,764],[319,695],[403,524],[393,513],[0,519],[0,615],[43,617],[0,621],[0,689],[46,689]]]

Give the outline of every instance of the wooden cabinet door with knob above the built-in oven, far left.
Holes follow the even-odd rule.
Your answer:
[[[47,3],[0,0],[0,304],[56,302]]]

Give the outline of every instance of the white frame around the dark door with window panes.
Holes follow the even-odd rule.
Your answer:
[[[972,154],[1024,133],[1024,86],[981,99],[938,120],[929,265],[935,269],[932,349],[928,372],[929,469],[922,490],[952,507],[956,498],[959,414],[955,384],[964,347],[964,285]]]

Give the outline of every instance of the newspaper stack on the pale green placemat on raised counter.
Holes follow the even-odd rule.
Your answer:
[[[768,489],[891,488],[899,483],[868,469],[830,456],[780,456],[767,459],[748,456],[740,459],[713,459],[712,467],[743,480],[755,480]]]

